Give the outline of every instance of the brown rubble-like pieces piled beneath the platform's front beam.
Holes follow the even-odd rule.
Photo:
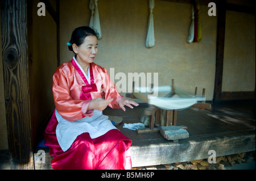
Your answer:
[[[255,151],[216,157],[216,163],[208,159],[197,159],[188,162],[177,162],[165,165],[137,167],[137,170],[225,170],[226,166],[234,166],[242,162],[250,163],[255,159]]]

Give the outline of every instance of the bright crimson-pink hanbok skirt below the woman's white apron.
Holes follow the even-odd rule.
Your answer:
[[[58,170],[119,170],[131,169],[129,148],[131,140],[118,129],[112,129],[97,138],[89,133],[77,136],[71,147],[63,151],[56,137],[58,121],[55,111],[46,130],[44,145],[49,146],[49,155],[53,157],[51,166]]]

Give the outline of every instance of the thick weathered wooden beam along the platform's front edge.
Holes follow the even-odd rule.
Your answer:
[[[255,129],[189,136],[179,142],[165,139],[134,140],[131,145],[133,167],[187,162],[255,150]]]

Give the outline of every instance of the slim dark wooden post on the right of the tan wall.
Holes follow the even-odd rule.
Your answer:
[[[224,61],[224,43],[226,26],[226,0],[217,1],[217,44],[216,44],[216,72],[213,102],[221,101],[222,73]]]

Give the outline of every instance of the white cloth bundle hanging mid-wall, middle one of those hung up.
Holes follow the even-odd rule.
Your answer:
[[[146,47],[154,47],[155,45],[155,35],[154,35],[154,18],[153,18],[153,9],[155,7],[154,0],[148,0],[149,8],[150,8],[150,15],[148,18],[147,24],[147,39],[146,39]]]

